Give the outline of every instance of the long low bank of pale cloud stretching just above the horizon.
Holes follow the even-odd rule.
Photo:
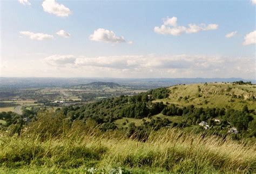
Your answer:
[[[65,70],[111,77],[246,77],[256,68],[254,58],[206,55],[122,55],[86,57],[53,55],[44,62]],[[253,76],[252,76],[253,77]],[[252,78],[251,77],[251,78]]]

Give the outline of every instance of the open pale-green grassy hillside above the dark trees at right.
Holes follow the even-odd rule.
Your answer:
[[[179,106],[225,107],[241,110],[244,105],[256,110],[256,85],[234,83],[200,83],[168,88],[169,97],[158,99]]]

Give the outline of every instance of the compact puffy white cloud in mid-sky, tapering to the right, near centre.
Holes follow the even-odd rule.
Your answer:
[[[110,30],[104,28],[98,28],[89,37],[92,41],[107,42],[107,43],[121,43],[127,42],[127,44],[132,44],[132,41],[126,41],[123,36],[117,37],[117,35]]]

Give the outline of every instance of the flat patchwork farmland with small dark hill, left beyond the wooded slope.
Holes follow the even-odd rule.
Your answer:
[[[22,113],[22,108],[62,107],[83,105],[120,95],[136,95],[145,89],[111,82],[92,82],[82,85],[49,86],[45,88],[0,88],[0,112]]]

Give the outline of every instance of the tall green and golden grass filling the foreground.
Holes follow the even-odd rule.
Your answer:
[[[28,129],[21,136],[1,134],[0,173],[256,172],[255,144],[181,129],[152,132],[146,142],[128,139],[122,131],[101,133],[79,124],[54,137],[42,137],[40,127],[35,133]]]

